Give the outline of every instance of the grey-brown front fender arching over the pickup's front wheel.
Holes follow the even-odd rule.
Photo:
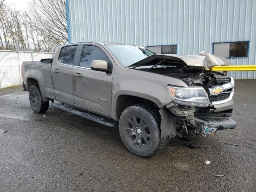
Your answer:
[[[116,101],[120,95],[144,98],[154,102],[158,108],[163,108],[174,100],[168,91],[168,84],[187,87],[182,80],[176,78],[117,64],[112,80],[112,115],[116,116]]]

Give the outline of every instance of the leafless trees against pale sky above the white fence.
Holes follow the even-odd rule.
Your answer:
[[[29,12],[0,0],[0,50],[52,51],[67,41],[64,0],[30,0]]]

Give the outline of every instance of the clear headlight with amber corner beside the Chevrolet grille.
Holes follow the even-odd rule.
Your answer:
[[[210,104],[208,95],[202,87],[168,86],[175,102],[181,105],[207,107]]]

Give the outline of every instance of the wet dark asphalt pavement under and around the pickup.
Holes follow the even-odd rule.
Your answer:
[[[256,80],[236,81],[233,118],[234,130],[172,139],[141,158],[118,128],[52,105],[35,114],[22,87],[1,89],[0,192],[256,192]]]

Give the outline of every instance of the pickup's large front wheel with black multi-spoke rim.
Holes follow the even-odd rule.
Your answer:
[[[168,138],[160,137],[160,122],[160,114],[153,106],[136,104],[126,108],[119,120],[119,133],[126,148],[142,157],[163,150]]]

